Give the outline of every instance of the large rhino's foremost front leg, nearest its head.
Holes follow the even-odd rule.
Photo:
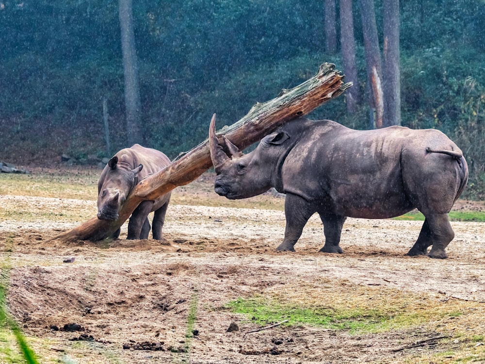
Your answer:
[[[315,210],[311,209],[306,199],[287,194],[285,199],[286,228],[285,238],[276,250],[295,251],[294,245],[300,238],[303,228]]]

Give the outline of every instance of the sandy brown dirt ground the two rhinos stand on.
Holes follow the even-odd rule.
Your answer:
[[[209,193],[210,178],[199,182]],[[179,199],[197,193],[174,191]],[[278,253],[285,216],[277,210],[172,204],[164,242],[66,244],[46,240],[95,216],[96,201],[0,195],[0,206],[24,212],[0,220],[0,244],[11,267],[8,308],[41,363],[485,363],[484,223],[453,222],[449,258],[433,260],[404,255],[417,221],[348,219],[336,255],[318,253],[323,226],[313,216],[297,252]],[[425,300],[459,315],[378,333],[248,332],[261,327],[226,307],[254,295],[332,305],[349,294],[405,298],[407,309]],[[239,331],[226,332],[232,322]],[[71,323],[80,326],[64,329]],[[143,342],[159,350],[135,349]]]

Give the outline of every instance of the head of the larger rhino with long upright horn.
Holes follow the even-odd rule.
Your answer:
[[[215,192],[228,199],[245,199],[260,195],[272,186],[272,170],[277,154],[272,146],[280,145],[289,138],[284,132],[264,137],[258,147],[250,153],[242,152],[224,135],[223,145],[215,135],[215,114],[210,121],[210,157],[217,177]]]

